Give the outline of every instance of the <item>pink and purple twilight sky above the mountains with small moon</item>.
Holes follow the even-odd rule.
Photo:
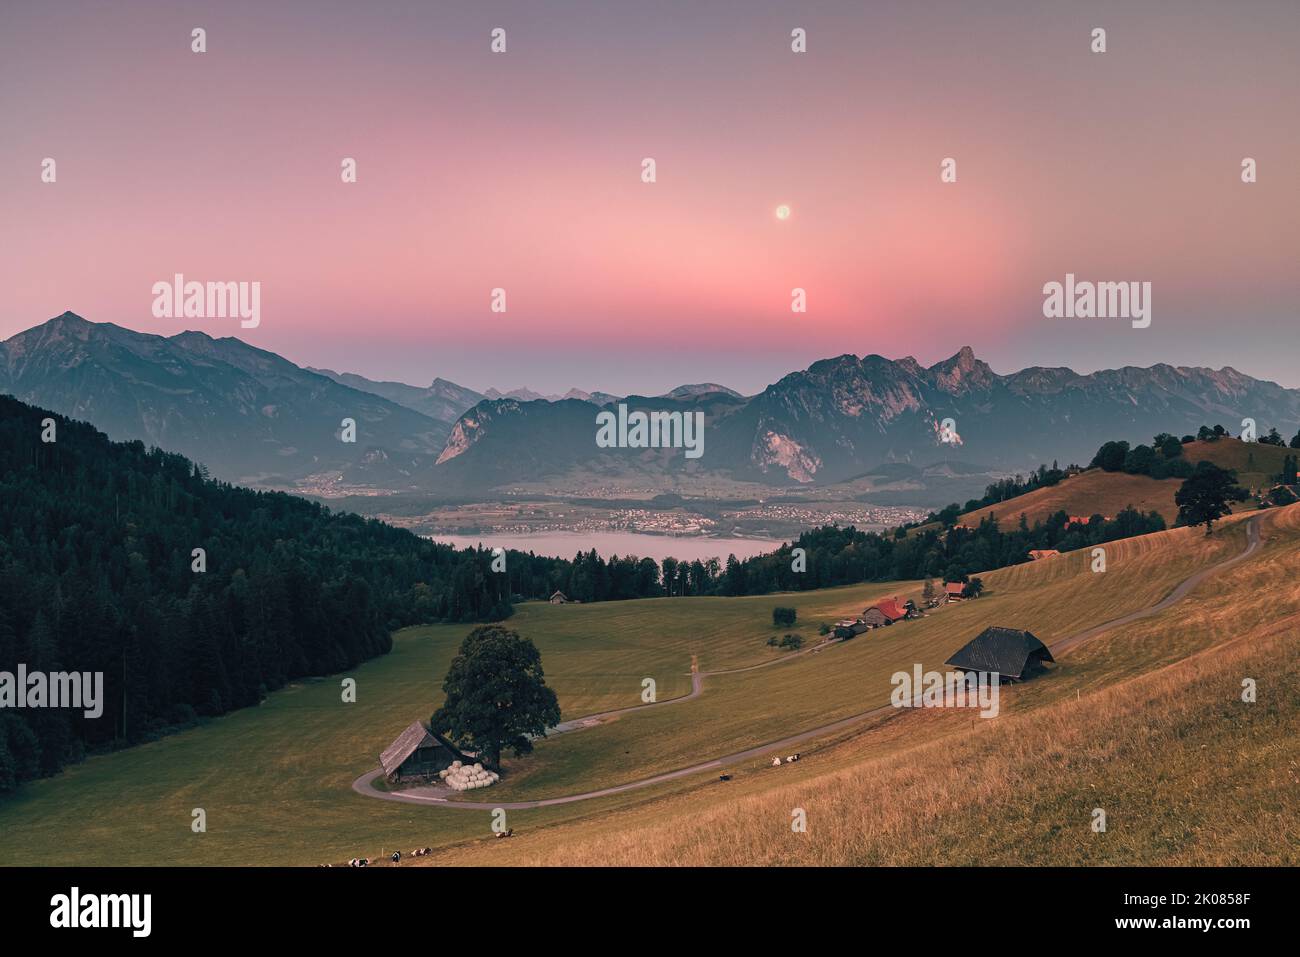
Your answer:
[[[1294,0],[5,0],[0,338],[72,309],[543,393],[963,345],[1300,387],[1297,39]],[[260,325],[155,317],[176,273],[260,282]],[[1150,282],[1150,326],[1045,319],[1066,273]]]

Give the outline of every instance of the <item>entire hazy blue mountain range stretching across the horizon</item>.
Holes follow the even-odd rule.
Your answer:
[[[1232,368],[1004,376],[962,347],[930,367],[911,356],[823,359],[751,397],[715,384],[659,397],[538,397],[300,368],[237,338],[151,335],[70,312],[0,343],[0,391],[112,438],[179,451],[233,481],[294,486],[330,476],[344,486],[458,494],[575,471],[650,485],[668,473],[715,473],[776,486],[940,459],[1023,471],[1087,462],[1114,438],[1149,442],[1214,423],[1236,432],[1243,417],[1290,436],[1300,423],[1300,390]],[[598,449],[597,413],[618,403],[703,412],[703,456]],[[356,423],[355,443],[341,441],[344,419]]]

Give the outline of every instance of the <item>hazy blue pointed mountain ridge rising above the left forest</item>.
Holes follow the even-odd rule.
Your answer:
[[[0,391],[204,463],[231,481],[428,471],[448,426],[234,338],[148,335],[65,312],[0,343]],[[356,421],[356,443],[339,439]],[[363,468],[363,473],[365,469]]]

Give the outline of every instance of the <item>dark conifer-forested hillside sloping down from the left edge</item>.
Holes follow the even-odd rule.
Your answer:
[[[8,395],[0,528],[0,671],[104,672],[95,720],[0,715],[0,792],[354,667],[395,627],[510,607],[476,553],[213,481]]]

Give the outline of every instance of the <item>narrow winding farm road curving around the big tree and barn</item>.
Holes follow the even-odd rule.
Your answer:
[[[1132,622],[1138,622],[1144,618],[1150,618],[1152,615],[1158,615],[1160,612],[1166,611],[1171,606],[1180,602],[1184,597],[1187,597],[1188,592],[1196,588],[1208,576],[1213,575],[1214,572],[1223,571],[1225,568],[1228,568],[1236,564],[1238,562],[1244,560],[1260,547],[1260,519],[1261,516],[1256,515],[1248,520],[1245,527],[1247,542],[1245,542],[1245,549],[1243,551],[1238,553],[1232,558],[1223,559],[1217,564],[1212,564],[1206,568],[1201,568],[1200,571],[1193,572],[1187,579],[1175,585],[1174,589],[1167,596],[1165,596],[1164,598],[1161,598],[1158,602],[1156,602],[1149,607],[1132,611],[1127,615],[1112,619],[1109,622],[1104,622],[1098,625],[1093,625],[1092,628],[1087,628],[1082,632],[1070,635],[1062,638],[1061,641],[1057,641],[1056,644],[1049,646],[1053,657],[1060,657],[1061,654],[1070,651],[1071,649],[1075,649],[1079,645],[1091,641],[1092,638],[1096,638],[1100,635],[1104,635],[1105,632],[1112,631],[1113,628],[1118,628],[1121,625],[1130,624]],[[809,649],[807,651],[800,651],[796,655],[790,655],[789,658],[776,658],[774,661],[763,662],[762,664],[754,664],[746,668],[733,668],[731,671],[705,671],[705,672],[693,671],[690,676],[692,680],[690,680],[689,694],[684,694],[676,698],[670,698],[667,701],[660,701],[653,705],[636,705],[633,707],[624,707],[616,711],[603,711],[601,714],[588,715],[586,718],[575,718],[571,722],[562,722],[555,727],[554,731],[560,731],[560,733],[563,733],[563,731],[575,731],[577,728],[586,727],[590,723],[597,723],[612,715],[627,714],[629,711],[641,711],[646,707],[663,707],[666,705],[675,705],[682,701],[690,701],[692,698],[699,697],[699,694],[703,693],[703,677],[708,675],[731,675],[741,671],[753,671],[754,668],[767,667],[770,664],[776,664],[777,662],[790,661],[790,658],[801,657],[803,654],[809,654],[812,651],[819,651],[824,649],[828,644],[835,644],[835,642],[823,642],[820,645]],[[774,750],[776,752],[786,750],[797,744],[802,744],[803,741],[809,741],[815,737],[822,737],[823,735],[831,735],[837,731],[842,731],[845,728],[853,727],[854,724],[864,722],[870,718],[876,718],[879,715],[888,714],[894,710],[896,709],[893,705],[881,705],[868,711],[862,711],[859,714],[850,715],[848,718],[841,718],[840,720],[831,722],[829,724],[823,724],[816,728],[810,728],[809,731],[801,731],[797,735],[790,735],[789,737],[783,737],[776,741],[767,741],[764,744],[755,745],[754,748],[746,748],[742,752],[725,754],[720,758],[714,758],[712,761],[706,761],[699,765],[692,765],[690,767],[681,767],[677,768],[676,771],[656,774],[653,778],[641,778],[634,781],[628,781],[627,784],[615,785],[612,788],[599,788],[598,791],[586,791],[581,794],[564,794],[563,797],[547,797],[537,801],[450,801],[446,797],[439,797],[434,793],[421,793],[424,792],[422,788],[411,788],[403,792],[380,791],[372,784],[376,776],[378,776],[382,772],[382,770],[378,767],[367,771],[355,781],[352,781],[352,791],[355,791],[359,794],[365,794],[367,797],[377,797],[384,801],[436,805],[441,807],[455,807],[459,810],[482,811],[482,810],[494,810],[497,807],[504,807],[506,810],[528,810],[532,807],[550,807],[558,804],[590,801],[597,797],[621,794],[625,791],[649,788],[654,784],[662,784],[663,781],[671,781],[679,778],[685,778],[688,775],[699,774],[701,771],[715,771],[718,768],[728,767],[741,761],[757,758],[764,753],[771,753]]]

